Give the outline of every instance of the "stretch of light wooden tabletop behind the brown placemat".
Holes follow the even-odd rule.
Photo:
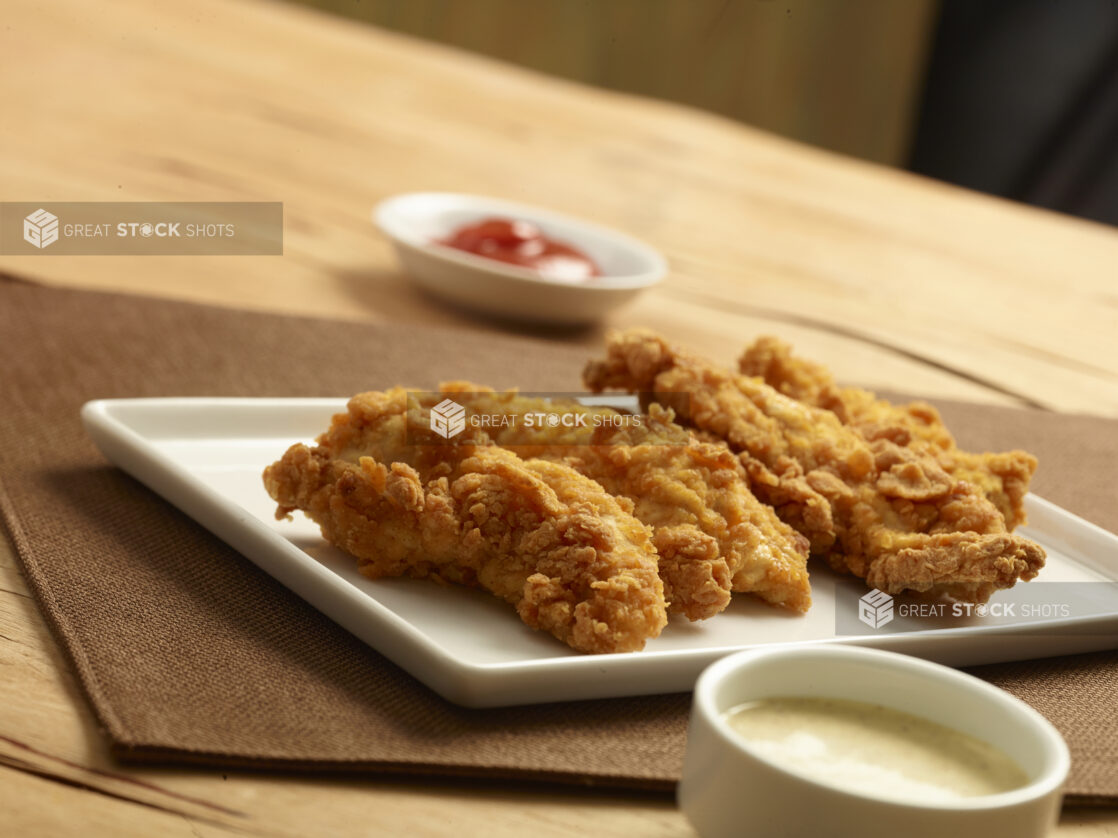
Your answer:
[[[417,294],[368,221],[396,192],[484,191],[667,254],[664,287],[605,325],[645,323],[719,358],[778,331],[846,380],[1118,412],[1108,228],[299,8],[20,0],[2,37],[13,70],[0,96],[17,116],[0,134],[7,194],[278,199],[286,255],[9,256],[0,267],[494,328]],[[49,96],[23,84],[17,68],[32,64]]]

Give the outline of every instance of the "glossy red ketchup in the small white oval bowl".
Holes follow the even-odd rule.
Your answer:
[[[548,279],[584,282],[601,276],[586,254],[544,236],[528,221],[487,218],[455,230],[439,245],[534,270]]]

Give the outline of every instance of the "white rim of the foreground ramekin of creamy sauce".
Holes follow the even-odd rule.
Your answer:
[[[824,658],[831,660],[846,660],[851,663],[872,660],[889,668],[926,677],[929,680],[938,680],[948,689],[968,692],[973,696],[977,696],[978,701],[994,702],[1015,713],[1018,717],[1027,720],[1029,729],[1033,732],[1033,734],[1035,734],[1038,740],[1041,742],[1042,747],[1051,758],[1050,768],[1034,780],[1020,788],[1010,789],[1008,791],[998,792],[996,794],[980,794],[950,801],[906,800],[903,798],[890,798],[879,794],[863,793],[843,788],[841,785],[833,785],[831,783],[811,778],[806,774],[802,774],[750,749],[745,737],[731,730],[730,725],[723,717],[722,712],[719,712],[718,705],[714,701],[716,691],[732,673],[741,669],[742,667],[749,667],[754,663],[771,658],[799,659],[805,666],[811,666]],[[825,697],[825,693],[822,695]],[[894,710],[910,712],[903,707],[896,707],[889,702],[882,702],[880,699],[874,701],[872,696],[866,696],[864,701],[868,703],[891,706]],[[902,655],[896,651],[885,651],[884,649],[872,649],[860,646],[836,646],[831,644],[785,649],[747,649],[733,655],[728,655],[727,657],[714,661],[703,670],[703,673],[699,676],[699,680],[695,683],[692,705],[694,711],[697,713],[701,713],[711,729],[718,734],[718,739],[722,746],[740,751],[750,759],[759,761],[777,773],[787,778],[794,778],[798,782],[806,783],[811,788],[825,790],[826,792],[833,794],[840,794],[842,797],[864,801],[875,806],[891,806],[901,809],[927,812],[986,811],[1006,809],[1043,799],[1052,792],[1059,790],[1067,779],[1068,771],[1071,766],[1071,754],[1069,753],[1068,744],[1064,742],[1063,736],[1060,735],[1060,732],[1057,731],[1052,723],[1042,716],[1038,711],[1030,707],[1016,696],[1006,693],[992,684],[987,684],[980,678],[976,678],[973,675],[958,672],[957,669],[953,669],[941,664],[935,664],[929,660],[922,660],[920,658],[916,658],[910,655]]]

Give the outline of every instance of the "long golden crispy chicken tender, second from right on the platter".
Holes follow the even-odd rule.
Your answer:
[[[647,330],[610,334],[584,373],[595,391],[651,392],[739,454],[754,494],[837,570],[889,593],[982,602],[1032,579],[1044,551],[1006,531],[997,507],[932,457],[866,439],[839,417],[735,374]]]

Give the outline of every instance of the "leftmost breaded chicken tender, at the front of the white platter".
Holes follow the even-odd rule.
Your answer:
[[[560,463],[410,445],[407,409],[401,389],[362,393],[315,447],[292,446],[264,472],[276,516],[303,511],[370,578],[484,588],[579,651],[635,651],[660,634],[657,556],[631,502]]]

